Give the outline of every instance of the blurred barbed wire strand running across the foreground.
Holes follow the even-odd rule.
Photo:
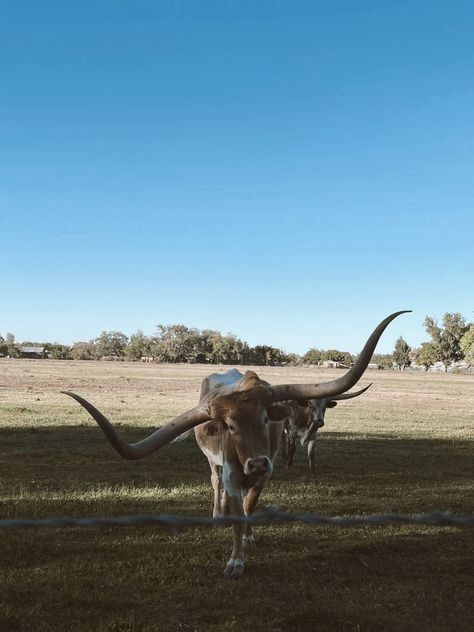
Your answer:
[[[36,520],[0,520],[1,529],[65,529],[86,527],[162,527],[171,532],[196,527],[229,527],[235,523],[252,525],[302,523],[311,526],[357,527],[418,525],[429,527],[473,527],[474,516],[455,516],[448,511],[426,514],[374,514],[369,516],[330,517],[317,514],[292,514],[279,507],[268,507],[251,516],[223,516],[218,518],[171,514],[136,515],[93,518],[40,518]]]

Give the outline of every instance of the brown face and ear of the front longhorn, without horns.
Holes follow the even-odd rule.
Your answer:
[[[272,405],[265,388],[235,391],[218,398],[212,416],[226,433],[228,447],[242,465],[246,476],[271,475],[270,425],[289,415],[288,407]]]

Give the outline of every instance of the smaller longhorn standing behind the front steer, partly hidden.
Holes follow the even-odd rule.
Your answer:
[[[316,433],[324,426],[324,416],[328,408],[337,406],[341,399],[352,399],[365,393],[372,384],[354,393],[344,393],[331,398],[303,399],[290,402],[291,414],[285,420],[285,427],[281,436],[281,455],[286,462],[287,469],[293,465],[296,452],[296,442],[299,439],[303,447],[307,447],[308,465],[315,473],[314,448]]]

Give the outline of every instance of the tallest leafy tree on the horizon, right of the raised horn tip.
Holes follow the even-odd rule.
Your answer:
[[[459,313],[446,313],[443,316],[443,326],[431,316],[424,321],[426,332],[431,336],[432,344],[436,350],[436,360],[444,364],[444,370],[452,362],[458,362],[464,357],[460,347],[460,341],[468,330],[464,318]]]

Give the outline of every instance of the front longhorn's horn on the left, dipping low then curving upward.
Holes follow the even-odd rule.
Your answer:
[[[145,456],[162,448],[183,432],[186,432],[186,430],[190,430],[194,428],[194,426],[211,419],[206,406],[196,406],[195,408],[191,408],[191,410],[187,410],[182,415],[178,415],[173,421],[158,428],[158,430],[155,430],[155,432],[152,432],[152,434],[141,441],[137,441],[137,443],[127,443],[119,436],[110,421],[104,417],[95,406],[92,406],[90,402],[80,395],[69,391],[61,391],[61,393],[75,399],[94,417],[112,446],[117,450],[120,456],[123,456],[125,459],[143,459]]]

